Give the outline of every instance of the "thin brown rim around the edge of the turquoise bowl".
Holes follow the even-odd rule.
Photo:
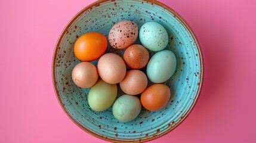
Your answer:
[[[53,63],[52,63],[52,76],[53,76],[53,85],[54,85],[54,91],[56,94],[56,97],[58,99],[58,102],[60,103],[61,107],[63,108],[64,112],[67,114],[67,116],[77,125],[79,126],[79,128],[81,128],[82,130],[84,130],[85,132],[89,133],[92,136],[95,136],[97,138],[103,139],[105,141],[110,141],[110,142],[146,142],[146,141],[151,141],[153,139],[159,138],[163,135],[165,135],[168,132],[171,132],[171,130],[174,130],[175,128],[177,128],[178,125],[180,125],[186,118],[187,116],[189,116],[189,114],[191,113],[191,111],[193,110],[193,108],[196,105],[196,102],[198,101],[199,95],[201,93],[202,90],[202,85],[203,85],[203,76],[204,76],[204,66],[203,66],[203,56],[202,56],[202,50],[201,47],[199,45],[198,39],[196,38],[195,33],[193,32],[193,30],[191,29],[191,27],[189,26],[189,24],[187,24],[187,22],[174,10],[172,10],[172,8],[168,7],[165,4],[162,4],[162,2],[159,1],[155,1],[155,0],[142,0],[145,2],[149,2],[152,4],[156,4],[159,5],[160,7],[164,8],[165,10],[168,10],[170,13],[174,14],[174,17],[178,18],[178,20],[181,21],[181,23],[188,29],[190,35],[192,35],[193,40],[195,41],[195,44],[198,48],[198,52],[199,52],[199,58],[200,58],[200,64],[201,64],[201,74],[199,76],[200,78],[200,82],[198,84],[199,88],[198,88],[198,92],[196,93],[196,97],[195,100],[192,104],[192,107],[190,107],[189,111],[187,111],[185,114],[183,114],[183,118],[180,120],[180,122],[178,122],[177,124],[175,124],[174,126],[172,126],[172,128],[169,128],[168,130],[165,130],[165,132],[160,133],[159,135],[154,135],[151,138],[144,138],[144,139],[138,139],[136,141],[134,140],[121,140],[121,139],[115,139],[115,138],[107,138],[101,135],[98,135],[97,133],[91,132],[90,129],[85,128],[84,126],[80,125],[78,122],[76,122],[75,119],[73,119],[72,116],[70,116],[69,113],[67,113],[67,110],[64,108],[63,103],[60,100],[60,95],[58,94],[58,90],[57,90],[57,82],[55,80],[55,60],[57,57],[57,51],[58,51],[58,47],[60,46],[60,41],[62,40],[64,33],[69,29],[69,27],[72,25],[73,21],[76,20],[76,18],[78,18],[82,13],[84,13],[85,11],[89,10],[92,7],[97,7],[99,6],[101,3],[106,2],[106,1],[115,1],[115,0],[99,0],[96,1],[90,5],[88,5],[87,7],[85,7],[84,9],[82,9],[81,11],[79,11],[78,14],[76,14],[70,21],[69,23],[66,25],[66,27],[64,28],[64,30],[61,32],[60,37],[58,38],[58,41],[55,45],[55,49],[54,49],[54,55],[53,55]]]

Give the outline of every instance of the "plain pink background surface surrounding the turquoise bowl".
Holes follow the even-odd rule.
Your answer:
[[[104,142],[64,113],[51,79],[61,30],[91,1],[0,4],[0,142]],[[256,28],[253,0],[161,0],[201,43],[205,82],[178,128],[152,142],[256,142]]]

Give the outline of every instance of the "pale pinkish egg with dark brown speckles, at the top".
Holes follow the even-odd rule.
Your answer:
[[[132,45],[138,37],[138,26],[134,21],[116,23],[109,32],[109,43],[113,48],[124,49]]]

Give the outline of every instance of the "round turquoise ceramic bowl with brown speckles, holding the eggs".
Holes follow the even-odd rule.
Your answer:
[[[91,110],[87,100],[90,89],[78,88],[71,77],[73,67],[81,62],[73,52],[76,39],[87,32],[108,36],[113,24],[121,20],[133,20],[139,28],[148,21],[162,24],[169,34],[166,49],[174,52],[177,58],[177,69],[165,82],[171,89],[168,104],[159,111],[143,108],[136,119],[127,123],[118,122],[113,117],[112,107],[102,112]],[[110,46],[107,52],[123,53]],[[92,63],[96,65],[97,61]],[[192,111],[203,83],[202,52],[192,29],[174,10],[153,0],[102,0],[84,8],[61,33],[52,68],[55,94],[67,116],[91,135],[111,142],[149,141],[175,129]]]

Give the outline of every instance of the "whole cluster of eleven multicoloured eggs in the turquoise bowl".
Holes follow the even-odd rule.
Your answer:
[[[134,44],[137,37],[142,45]],[[76,57],[82,62],[73,68],[72,79],[80,88],[91,88],[88,104],[92,110],[104,111],[113,105],[113,116],[129,122],[138,116],[142,105],[150,111],[163,108],[171,97],[169,87],[163,82],[176,68],[175,55],[164,50],[168,45],[164,26],[152,21],[138,30],[134,21],[119,21],[110,29],[108,38],[112,48],[126,48],[124,59],[117,54],[105,54],[108,41],[98,32],[85,33],[74,47]],[[148,50],[156,54],[150,58]],[[97,67],[90,63],[98,58]],[[127,71],[127,67],[131,70]],[[146,74],[140,70],[144,67]],[[148,86],[148,79],[154,84]],[[118,83],[125,95],[116,99]]]

